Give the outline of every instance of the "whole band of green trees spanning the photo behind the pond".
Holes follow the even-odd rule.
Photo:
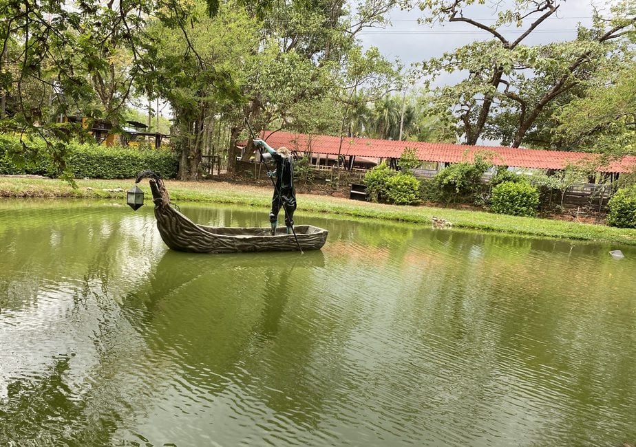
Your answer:
[[[633,1],[595,14],[573,41],[529,46],[562,0],[518,0],[494,12],[492,25],[471,16],[476,0],[404,0],[428,21],[490,36],[418,65],[427,79],[465,74],[432,92],[409,88],[397,61],[358,40],[385,25],[397,3],[4,0],[0,130],[45,138],[63,171],[65,141],[79,129],[56,117],[81,113],[117,127],[133,99],[160,99],[174,114],[183,179],[200,176],[204,153],[220,140],[232,171],[245,118],[255,131],[634,151]],[[509,25],[520,28],[514,40]],[[28,138],[15,155],[30,155]]]

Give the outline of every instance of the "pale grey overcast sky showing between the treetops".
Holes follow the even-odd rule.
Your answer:
[[[491,3],[491,1],[488,1]],[[511,1],[507,0],[507,3]],[[605,8],[608,1],[593,2],[597,8]],[[575,38],[578,23],[589,26],[593,11],[593,3],[590,0],[567,0],[561,2],[558,12],[544,21],[524,43],[536,45],[553,41],[569,41]],[[489,8],[485,6],[471,6],[465,10],[465,17],[480,19],[483,23],[494,23],[494,17]],[[428,58],[441,56],[444,52],[450,52],[458,47],[480,39],[490,39],[487,32],[477,30],[467,23],[418,24],[417,19],[423,17],[420,10],[400,11],[394,10],[391,14],[392,25],[385,29],[372,28],[363,30],[359,34],[364,47],[376,46],[380,52],[393,61],[398,58],[405,67],[410,64],[425,61]],[[522,28],[509,28],[502,32],[506,38],[516,39],[525,30]],[[455,76],[444,76],[438,83],[454,83]]]

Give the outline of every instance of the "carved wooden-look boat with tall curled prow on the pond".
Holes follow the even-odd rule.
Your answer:
[[[136,183],[144,178],[149,178],[159,234],[172,250],[193,253],[306,251],[319,250],[327,240],[327,230],[311,225],[295,226],[296,236],[288,235],[284,226],[271,235],[269,228],[198,225],[171,206],[159,175],[142,171],[138,173]]]

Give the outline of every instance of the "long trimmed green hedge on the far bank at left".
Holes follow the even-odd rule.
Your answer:
[[[28,148],[24,149],[17,137],[0,135],[0,174],[59,175],[42,140],[28,142]],[[143,169],[151,169],[164,178],[173,178],[178,171],[178,157],[166,149],[70,142],[66,151],[67,166],[75,178],[131,178]]]

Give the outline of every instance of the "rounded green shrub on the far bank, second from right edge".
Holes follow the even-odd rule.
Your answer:
[[[513,216],[535,216],[539,190],[528,182],[503,182],[492,188],[491,210]]]

